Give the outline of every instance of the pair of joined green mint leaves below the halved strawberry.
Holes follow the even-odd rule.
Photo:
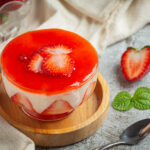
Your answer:
[[[133,106],[140,110],[150,109],[150,88],[138,88],[133,97],[127,91],[121,91],[115,96],[112,106],[119,111],[127,111]]]

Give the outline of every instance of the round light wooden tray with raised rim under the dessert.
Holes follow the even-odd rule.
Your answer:
[[[108,107],[109,89],[100,73],[91,97],[67,118],[55,122],[28,117],[8,98],[2,84],[0,86],[0,115],[39,146],[65,146],[87,138],[101,126]]]

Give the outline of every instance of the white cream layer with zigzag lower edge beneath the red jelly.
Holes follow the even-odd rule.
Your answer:
[[[16,93],[24,95],[32,104],[34,110],[40,114],[56,100],[64,100],[67,101],[73,108],[77,107],[82,102],[85,92],[90,84],[97,81],[97,73],[83,86],[73,89],[70,92],[64,92],[55,95],[37,94],[22,90],[21,88],[12,84],[3,73],[2,79],[6,92],[10,98]]]

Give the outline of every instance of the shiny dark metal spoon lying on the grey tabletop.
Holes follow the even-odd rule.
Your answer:
[[[129,126],[120,136],[120,140],[112,142],[95,150],[105,150],[116,145],[135,145],[150,132],[150,119],[140,120]]]

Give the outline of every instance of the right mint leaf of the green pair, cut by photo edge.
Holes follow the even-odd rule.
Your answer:
[[[134,107],[141,110],[150,109],[150,88],[138,88],[132,98]]]

